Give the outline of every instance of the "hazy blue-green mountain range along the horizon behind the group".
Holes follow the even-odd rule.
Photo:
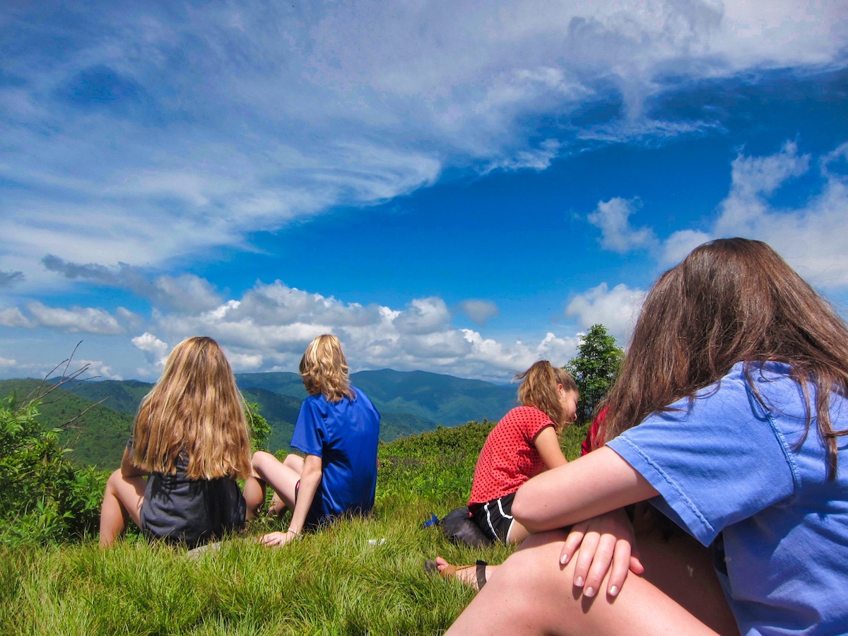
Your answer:
[[[259,412],[271,425],[271,450],[287,448],[306,397],[300,376],[289,372],[238,373],[236,381],[244,398],[259,404]],[[380,411],[380,438],[387,442],[438,426],[497,421],[516,405],[515,386],[427,371],[360,371],[352,374],[350,381]],[[31,379],[3,380],[0,397],[16,393],[18,399],[25,399],[40,384]],[[60,439],[73,449],[69,456],[76,462],[115,468],[120,464],[138,404],[152,387],[137,380],[65,384],[42,404],[41,419],[47,426],[63,428]],[[101,400],[102,404],[96,404]]]

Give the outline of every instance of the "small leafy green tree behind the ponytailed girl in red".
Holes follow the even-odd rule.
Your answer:
[[[623,358],[624,351],[616,345],[616,338],[606,332],[605,326],[589,327],[577,348],[577,355],[566,365],[566,371],[572,374],[580,391],[579,423],[592,419],[595,407],[615,381]]]

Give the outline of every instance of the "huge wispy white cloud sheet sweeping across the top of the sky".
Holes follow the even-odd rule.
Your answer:
[[[848,44],[838,1],[213,2],[176,20],[149,3],[71,11],[16,9],[34,26],[2,63],[26,78],[0,86],[0,176],[22,186],[0,204],[0,234],[20,286],[58,283],[35,266],[44,254],[159,266],[334,205],[386,201],[445,167],[544,170],[569,142],[539,142],[527,122],[567,120],[611,93],[622,113],[568,134],[704,130],[713,124],[651,120],[644,102],[742,71],[835,68]],[[51,58],[45,42],[63,53]],[[120,99],[86,102],[95,85]]]

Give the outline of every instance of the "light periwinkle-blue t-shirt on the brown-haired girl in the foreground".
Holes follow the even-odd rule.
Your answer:
[[[750,377],[767,408],[739,363],[691,408],[680,400],[607,445],[659,491],[651,503],[700,543],[723,544],[717,572],[741,633],[845,633],[848,438],[828,481],[814,389],[805,438],[789,366],[754,365]],[[834,430],[848,428],[848,401],[830,399]]]

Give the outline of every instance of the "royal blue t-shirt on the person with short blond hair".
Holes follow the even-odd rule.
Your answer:
[[[292,446],[321,457],[321,486],[312,499],[306,527],[347,512],[370,512],[377,489],[380,414],[358,388],[356,399],[327,402],[310,395],[300,407]]]

